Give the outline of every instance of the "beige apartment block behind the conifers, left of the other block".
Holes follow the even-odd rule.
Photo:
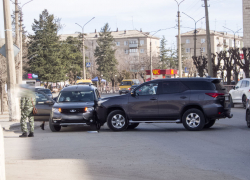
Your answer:
[[[138,60],[150,55],[150,41],[152,45],[152,57],[159,57],[160,38],[150,36],[148,32],[137,30],[112,31],[116,46],[116,58],[120,66],[127,66],[130,71],[136,71],[135,64]],[[68,36],[77,37],[78,34],[63,34],[60,35],[61,40],[66,40]],[[86,56],[91,62],[91,69],[95,71],[94,51],[97,46],[98,32],[87,33],[85,36]],[[133,67],[134,66],[134,67]],[[147,67],[145,66],[145,69]]]

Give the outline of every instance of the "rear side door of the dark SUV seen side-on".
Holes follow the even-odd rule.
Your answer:
[[[188,88],[180,81],[164,81],[159,84],[159,117],[164,120],[178,119],[181,109],[189,103]]]

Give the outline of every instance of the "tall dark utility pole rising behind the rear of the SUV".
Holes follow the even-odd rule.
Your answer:
[[[212,59],[211,59],[211,42],[210,42],[208,5],[207,5],[207,0],[204,0],[204,2],[205,2],[205,14],[206,14],[208,76],[212,77],[213,76],[213,68],[212,68]]]

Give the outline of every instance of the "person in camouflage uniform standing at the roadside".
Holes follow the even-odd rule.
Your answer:
[[[21,97],[21,129],[23,134],[19,137],[34,137],[34,116],[33,105],[36,104],[36,98],[31,96]],[[28,135],[26,119],[29,119],[30,133]]]

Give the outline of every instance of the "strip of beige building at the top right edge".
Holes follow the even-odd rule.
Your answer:
[[[243,41],[245,47],[250,47],[250,1],[242,0],[243,6]]]

